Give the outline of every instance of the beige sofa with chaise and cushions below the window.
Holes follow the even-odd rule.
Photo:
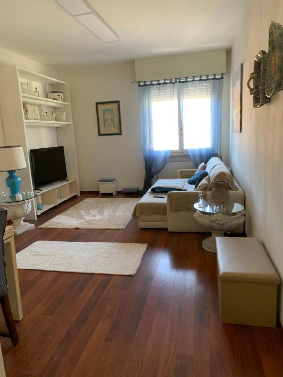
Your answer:
[[[230,185],[233,190],[230,191],[232,201],[245,204],[245,195],[243,190],[233,179],[226,165],[218,158],[212,157],[207,162],[206,170],[209,179],[223,179],[229,177]],[[209,232],[209,230],[199,225],[193,217],[195,213],[194,203],[198,201],[199,191],[195,191],[195,185],[187,183],[196,169],[179,170],[177,179],[159,179],[153,186],[162,186],[175,182],[186,184],[186,191],[169,192],[168,194],[156,194],[151,192],[151,187],[140,202],[136,205],[133,217],[138,220],[140,228],[164,228],[170,232]],[[211,200],[212,181],[203,191],[205,199]],[[163,198],[154,198],[154,196],[163,196]],[[234,230],[242,232],[243,226]]]

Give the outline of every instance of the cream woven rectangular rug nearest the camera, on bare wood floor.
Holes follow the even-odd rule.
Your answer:
[[[18,269],[135,275],[145,243],[37,241],[17,253]]]

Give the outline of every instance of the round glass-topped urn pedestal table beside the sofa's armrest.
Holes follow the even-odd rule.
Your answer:
[[[206,201],[205,207],[194,204],[197,212],[195,220],[210,230],[211,236],[202,241],[202,247],[206,251],[216,253],[215,237],[222,237],[224,232],[233,230],[245,221],[244,206],[240,203],[228,202],[222,206]]]

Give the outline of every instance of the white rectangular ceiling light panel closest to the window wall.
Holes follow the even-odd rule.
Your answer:
[[[89,13],[75,16],[75,18],[90,31],[92,31],[98,38],[102,39],[103,42],[113,42],[119,40],[117,34],[96,14]]]

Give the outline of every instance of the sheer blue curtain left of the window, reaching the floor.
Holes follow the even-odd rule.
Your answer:
[[[145,162],[145,177],[142,194],[152,186],[155,175],[165,167],[170,150],[155,151],[153,149],[152,127],[152,90],[154,86],[139,87],[139,106],[142,133],[142,152]]]

